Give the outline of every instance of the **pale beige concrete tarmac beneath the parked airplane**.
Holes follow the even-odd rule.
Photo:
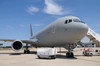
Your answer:
[[[65,53],[58,53],[56,59],[38,59],[36,49],[30,54],[23,50],[0,50],[0,66],[100,66],[100,56],[83,56],[80,49],[74,52],[74,58],[66,58]]]

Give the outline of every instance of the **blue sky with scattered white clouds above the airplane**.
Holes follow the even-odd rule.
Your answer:
[[[100,33],[100,0],[0,0],[0,38],[29,39],[29,24],[36,34],[68,15],[79,17]]]

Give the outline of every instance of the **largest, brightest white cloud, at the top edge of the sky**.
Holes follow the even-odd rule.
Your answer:
[[[54,0],[45,0],[45,8],[44,12],[47,14],[53,14],[53,15],[63,15],[68,14],[70,11],[64,11],[62,6],[59,6],[57,3],[54,2]]]

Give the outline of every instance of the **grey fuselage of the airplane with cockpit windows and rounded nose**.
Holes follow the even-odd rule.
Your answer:
[[[78,17],[67,16],[57,19],[48,25],[32,39],[38,39],[37,47],[59,47],[67,44],[76,44],[87,33],[88,26]]]

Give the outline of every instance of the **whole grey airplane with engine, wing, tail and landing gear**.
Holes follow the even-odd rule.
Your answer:
[[[88,31],[88,26],[78,17],[66,16],[57,19],[37,35],[33,35],[30,25],[31,38],[29,40],[0,39],[0,41],[13,42],[11,47],[14,51],[20,51],[23,43],[26,44],[24,53],[29,53],[28,44],[34,47],[64,47],[68,50],[67,57],[73,57],[71,49],[74,49]]]

